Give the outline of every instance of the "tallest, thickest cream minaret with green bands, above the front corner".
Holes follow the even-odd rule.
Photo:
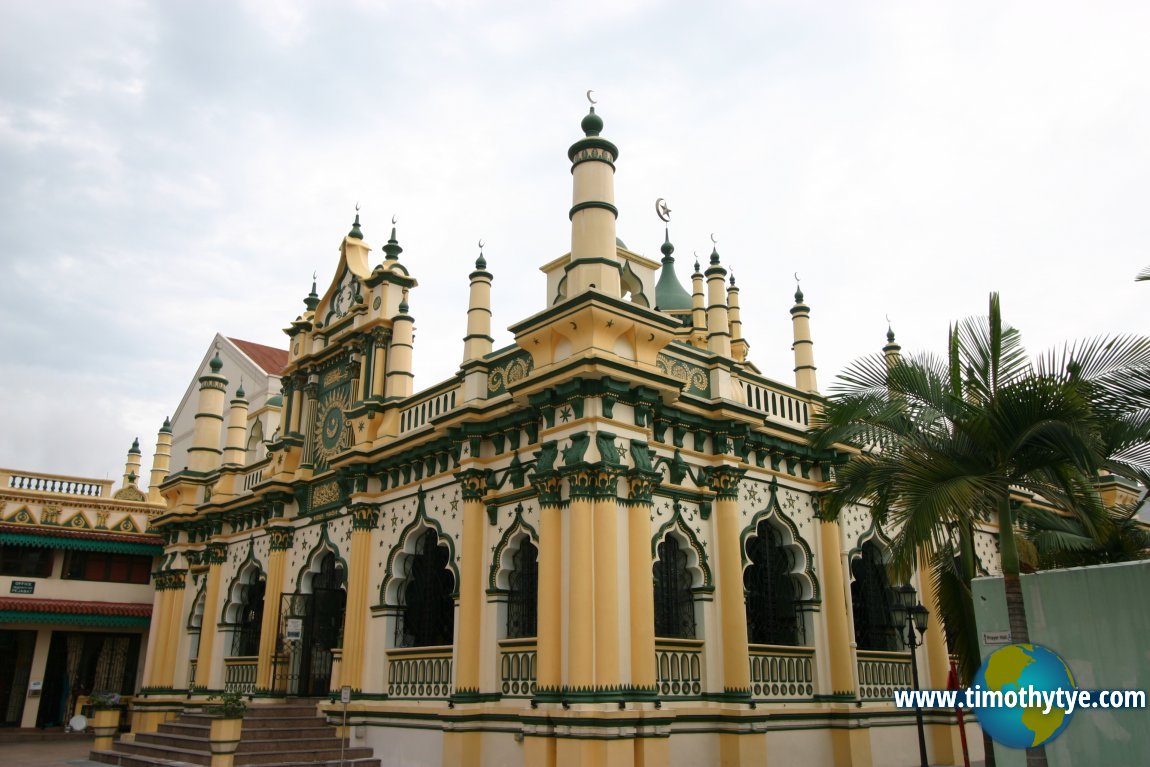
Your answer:
[[[593,103],[593,102],[592,102]],[[595,106],[583,117],[583,138],[572,145],[572,256],[567,264],[567,298],[595,289],[621,297],[615,254],[615,159],[619,148],[600,138],[603,118]]]

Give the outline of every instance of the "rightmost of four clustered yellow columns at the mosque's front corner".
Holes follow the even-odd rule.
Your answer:
[[[631,599],[631,687],[656,691],[651,492],[659,474],[632,471],[627,491],[627,567]],[[658,738],[662,742],[662,738]]]

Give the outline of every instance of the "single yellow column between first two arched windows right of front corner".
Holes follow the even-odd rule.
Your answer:
[[[746,638],[746,600],[743,597],[743,552],[738,519],[738,482],[745,469],[720,466],[711,473],[719,536],[719,615],[722,619],[723,692],[750,695],[751,661]]]

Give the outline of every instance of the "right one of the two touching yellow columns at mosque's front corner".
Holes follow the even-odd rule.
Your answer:
[[[593,476],[595,687],[604,690],[618,688],[623,682],[619,662],[619,499],[615,494],[619,473],[604,467]],[[573,570],[572,577],[578,577],[578,573]],[[650,582],[650,577],[645,581]]]

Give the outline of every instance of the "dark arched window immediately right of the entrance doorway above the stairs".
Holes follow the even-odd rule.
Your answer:
[[[435,530],[425,530],[415,543],[415,553],[404,563],[396,646],[424,647],[451,644],[455,631],[455,578],[447,567],[447,546]]]

